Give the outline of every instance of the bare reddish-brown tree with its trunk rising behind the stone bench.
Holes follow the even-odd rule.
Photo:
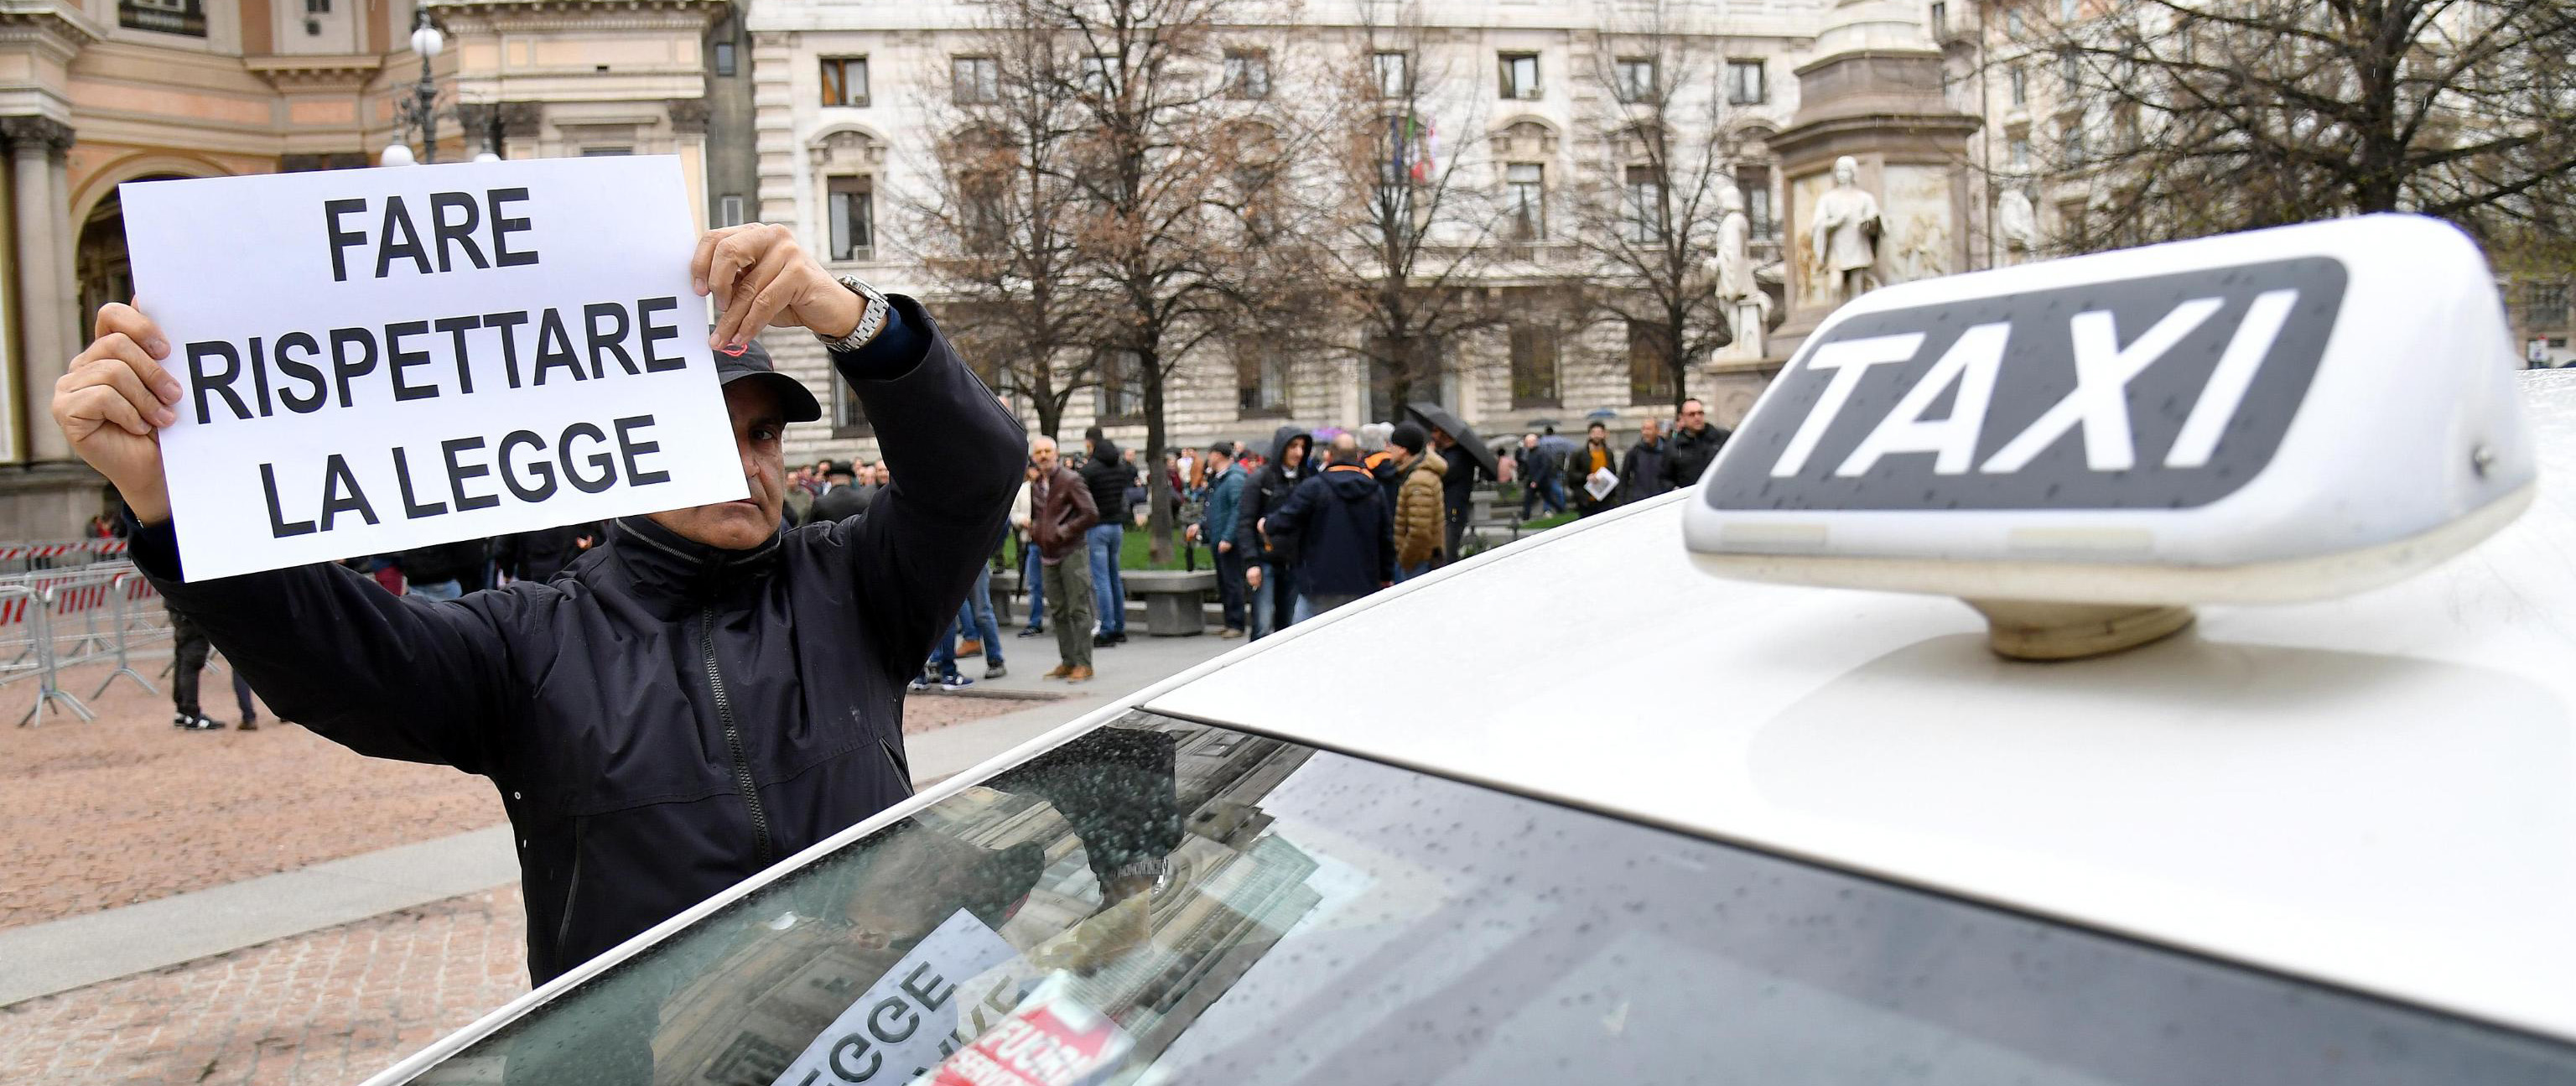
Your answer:
[[[1242,229],[1244,172],[1270,165],[1260,100],[1229,98],[1221,77],[1229,44],[1278,26],[1252,0],[1007,0],[1007,18],[1048,33],[1051,77],[1079,118],[1064,172],[1082,193],[1074,270],[1100,296],[1100,381],[1139,396],[1154,561],[1172,553],[1159,471],[1172,373],[1247,299],[1278,293]]]

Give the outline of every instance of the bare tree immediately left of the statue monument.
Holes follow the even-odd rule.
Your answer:
[[[1600,93],[1582,124],[1602,160],[1574,198],[1574,239],[1595,268],[1584,314],[1646,337],[1674,409],[1690,396],[1690,363],[1734,342],[1705,260],[1741,152],[1718,90],[1718,41],[1685,10],[1651,0],[1600,31],[1589,57]]]

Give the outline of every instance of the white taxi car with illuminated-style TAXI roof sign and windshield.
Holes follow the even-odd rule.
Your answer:
[[[2357,219],[1870,293],[1703,486],[376,1081],[2571,1083],[2576,376],[2486,275]]]

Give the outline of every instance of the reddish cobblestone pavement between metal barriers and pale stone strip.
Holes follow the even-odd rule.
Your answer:
[[[147,667],[149,672],[149,667]],[[98,674],[72,672],[88,695]],[[28,690],[0,700],[15,721]],[[232,723],[227,677],[209,708]],[[914,695],[904,733],[1028,708]],[[170,700],[118,682],[98,721],[0,726],[0,929],[131,906],[502,821],[482,777],[358,757],[304,728],[170,728]],[[0,1078],[18,1081],[18,1078]]]

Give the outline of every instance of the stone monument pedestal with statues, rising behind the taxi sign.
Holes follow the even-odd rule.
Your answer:
[[[1852,18],[1862,15],[1855,8]],[[1868,23],[1886,31],[1888,18]],[[1855,23],[1860,26],[1860,23]],[[1917,26],[1919,31],[1919,26]],[[1844,49],[1798,67],[1798,116],[1770,139],[1788,178],[1788,319],[1772,337],[1775,355],[1795,355],[1844,299],[1816,262],[1816,201],[1834,188],[1834,160],[1860,165],[1857,188],[1878,198],[1878,268],[1886,283],[1968,268],[1968,134],[1978,118],[1942,100],[1942,54],[1929,36],[1832,36]],[[1829,36],[1819,36],[1819,46]]]

